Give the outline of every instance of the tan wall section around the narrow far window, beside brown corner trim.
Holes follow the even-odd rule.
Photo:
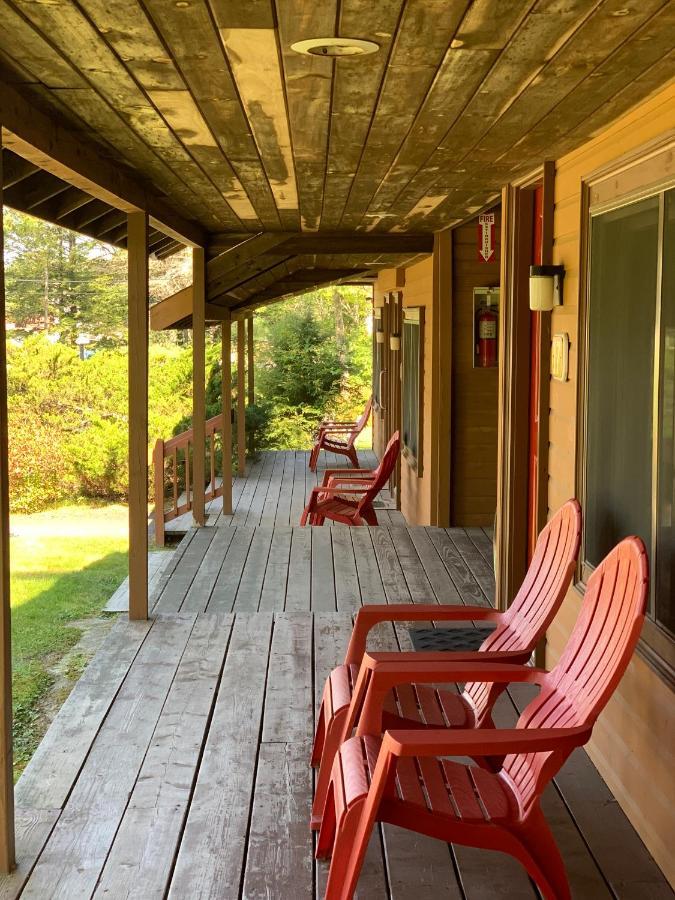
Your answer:
[[[424,409],[422,476],[401,461],[401,512],[408,522],[428,525],[431,515],[431,360],[433,322],[433,259],[429,257],[406,269],[403,307],[424,307]]]

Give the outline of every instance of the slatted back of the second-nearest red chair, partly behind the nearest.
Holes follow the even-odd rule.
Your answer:
[[[532,652],[555,618],[571,584],[581,542],[581,507],[568,500],[541,530],[520,590],[481,650]],[[465,695],[482,724],[504,685],[474,682]]]

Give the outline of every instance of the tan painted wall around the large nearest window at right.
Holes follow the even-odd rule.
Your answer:
[[[575,493],[577,347],[582,179],[675,127],[675,88],[652,97],[556,165],[554,263],[565,266],[564,305],[552,331],[567,331],[570,380],[550,395],[549,510]],[[579,611],[570,591],[548,635],[547,665],[559,657]],[[636,656],[595,728],[589,754],[671,883],[675,882],[675,695]]]

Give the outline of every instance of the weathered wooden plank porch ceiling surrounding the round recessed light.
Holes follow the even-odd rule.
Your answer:
[[[0,62],[209,232],[431,233],[664,84],[674,25],[664,0],[0,0]],[[335,33],[380,50],[290,49]]]

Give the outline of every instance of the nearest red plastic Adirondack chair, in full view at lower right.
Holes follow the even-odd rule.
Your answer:
[[[538,696],[515,728],[388,731],[367,736],[359,723],[333,765],[317,856],[333,850],[326,900],[351,900],[375,822],[391,822],[453,844],[500,850],[518,859],[547,900],[568,900],[560,851],[540,797],[567,757],[585,744],[637,644],[648,594],[648,563],[639,538],[622,541],[588,581],[581,613],[558,665],[457,664],[453,681],[529,682]],[[364,665],[367,660],[364,660]],[[414,669],[414,672],[412,671]],[[450,671],[452,669],[452,672]],[[435,666],[411,667],[417,681],[436,681]],[[371,681],[382,699],[408,676],[376,665]],[[506,754],[497,773],[444,757]]]

